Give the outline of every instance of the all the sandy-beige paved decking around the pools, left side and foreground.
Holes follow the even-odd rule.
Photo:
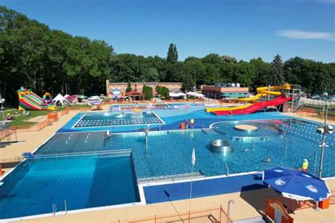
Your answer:
[[[102,110],[103,111],[103,110]],[[70,111],[69,114],[59,118],[59,121],[52,123],[39,132],[18,132],[18,140],[22,143],[13,143],[0,149],[0,159],[15,159],[21,156],[22,152],[31,152],[40,146],[45,140],[51,137],[61,126],[64,126],[80,111]],[[297,116],[295,114],[288,114]],[[284,116],[283,116],[284,117]],[[298,118],[311,121],[322,121],[307,116]],[[329,121],[331,123],[331,121]],[[335,122],[333,121],[333,124]],[[6,170],[6,169],[5,169]],[[335,180],[327,181],[329,188],[335,191]],[[221,195],[209,195],[202,198],[192,199],[192,210],[199,210],[206,207],[223,205],[227,209],[228,200],[234,199],[235,204],[231,209],[233,219],[246,219],[261,216],[266,198],[278,198],[278,194],[268,188],[261,188],[253,191],[242,191],[225,193]],[[93,212],[81,212],[71,215],[62,215],[42,219],[28,220],[27,222],[117,222],[137,217],[151,217],[153,215],[167,215],[188,210],[188,200],[175,200],[150,205],[139,205],[134,207],[122,207],[110,210]],[[241,211],[242,210],[242,211]],[[335,222],[335,205],[328,210],[315,212],[312,209],[298,210],[293,216],[296,222]]]

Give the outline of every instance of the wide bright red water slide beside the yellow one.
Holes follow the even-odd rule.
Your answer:
[[[230,111],[231,111],[231,114],[250,114],[250,113],[254,113],[258,111],[259,109],[263,109],[269,106],[277,106],[279,104],[283,104],[290,100],[292,100],[292,97],[285,97],[281,95],[280,97],[277,97],[276,99],[271,100],[271,101],[255,102],[254,104],[244,109],[237,109],[237,110],[230,110]],[[212,113],[216,115],[228,115],[229,111],[212,111]]]

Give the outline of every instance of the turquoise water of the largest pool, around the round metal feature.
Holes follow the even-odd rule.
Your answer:
[[[236,124],[257,126],[257,131],[238,131]],[[206,176],[260,171],[279,166],[300,167],[303,159],[310,161],[309,172],[317,173],[319,144],[322,135],[316,124],[297,119],[267,121],[233,121],[218,123],[201,131],[151,132],[148,147],[144,135],[121,134],[107,138],[107,150],[131,148],[138,178],[187,174],[191,171],[192,147],[196,150],[194,170]],[[211,152],[211,140],[229,140],[232,152],[226,155]],[[335,176],[335,138],[328,135],[329,147],[324,155],[323,176]],[[287,146],[286,146],[287,143]],[[315,155],[317,159],[315,161]],[[265,163],[271,158],[269,164]],[[228,169],[226,166],[228,166]]]

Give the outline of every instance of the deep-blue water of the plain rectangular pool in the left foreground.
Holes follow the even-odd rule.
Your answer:
[[[131,156],[26,160],[0,186],[0,219],[139,202]]]

